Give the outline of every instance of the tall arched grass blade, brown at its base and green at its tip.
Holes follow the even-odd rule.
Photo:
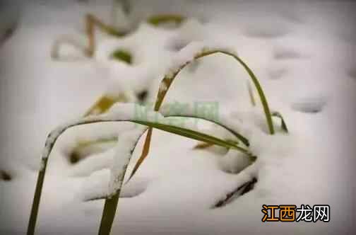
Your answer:
[[[263,107],[263,111],[264,111],[265,116],[266,116],[266,122],[267,122],[267,125],[268,125],[268,130],[269,130],[270,134],[274,134],[275,130],[274,130],[274,127],[273,127],[271,110],[270,110],[270,108],[268,106],[268,102],[267,102],[266,96],[265,96],[265,94],[263,92],[261,84],[259,83],[259,80],[255,76],[254,72],[247,66],[247,64],[240,57],[238,57],[234,53],[229,52],[227,50],[219,50],[219,49],[210,50],[210,49],[206,49],[205,48],[200,52],[196,52],[196,55],[190,61],[186,61],[186,62],[183,62],[182,64],[180,64],[179,67],[175,71],[172,71],[172,74],[171,73],[165,74],[164,78],[161,81],[161,85],[163,87],[166,87],[166,89],[162,89],[162,90],[158,91],[158,95],[157,95],[157,98],[156,98],[156,101],[155,101],[154,110],[155,111],[160,110],[162,102],[163,102],[167,92],[169,91],[170,86],[172,85],[174,79],[177,77],[179,72],[182,71],[182,69],[184,69],[187,65],[191,64],[192,62],[195,62],[197,59],[201,59],[203,57],[207,57],[209,55],[215,55],[215,54],[218,54],[218,53],[234,58],[247,71],[247,74],[249,74],[249,77],[250,77],[252,83],[254,84],[258,94],[259,94],[259,98],[260,98],[260,101],[261,101],[261,104],[262,104],[262,107]],[[140,158],[138,159],[136,165],[134,166],[133,171],[131,172],[131,176],[130,176],[129,180],[135,175],[136,171],[141,166],[141,164],[143,163],[144,159],[146,159],[146,157],[148,156],[148,152],[149,152],[149,148],[150,148],[151,135],[152,135],[152,130],[150,130],[148,132],[147,136],[146,136],[145,144],[143,145],[142,154],[141,154]]]

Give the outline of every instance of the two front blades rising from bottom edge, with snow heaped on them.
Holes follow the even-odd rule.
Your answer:
[[[102,115],[90,115],[88,117],[83,117],[79,120],[73,120],[71,122],[66,123],[65,125],[57,127],[57,129],[55,129],[48,135],[45,144],[45,149],[42,152],[41,168],[37,178],[34,200],[32,202],[30,222],[28,225],[28,234],[34,234],[35,232],[35,223],[37,220],[40,197],[42,194],[42,186],[45,180],[45,173],[47,169],[47,161],[49,155],[51,154],[54,144],[57,142],[59,136],[71,127],[76,127],[78,125],[88,125],[90,123],[97,122],[134,122],[136,124],[146,125],[146,127],[139,127],[138,130],[135,130],[135,132],[130,133],[128,136],[124,135],[122,139],[119,139],[119,147],[117,147],[117,149],[122,148],[122,150],[117,151],[117,154],[119,156],[115,158],[118,160],[116,163],[118,166],[113,166],[112,168],[112,182],[110,183],[109,190],[106,195],[107,199],[105,201],[105,209],[102,216],[102,225],[100,226],[99,234],[109,234],[109,230],[111,228],[111,224],[113,222],[114,214],[116,211],[117,201],[119,200],[119,193],[121,190],[122,181],[124,180],[126,167],[129,164],[132,151],[136,147],[138,139],[144,132],[146,132],[148,127],[156,128],[173,134],[179,134],[181,136],[196,139],[201,142],[216,144],[218,146],[226,147],[229,149],[236,149],[237,151],[242,151],[244,154],[247,154],[247,156],[251,157],[251,159],[254,159],[254,156],[252,156],[252,154],[247,149],[240,147],[239,144],[236,144],[235,142],[229,142],[224,139],[219,139],[217,137],[213,137],[209,134],[204,134],[203,132],[198,132],[196,130],[166,124],[167,122],[170,122],[169,117],[163,117],[158,112],[150,113],[150,116],[154,117],[153,120],[141,119],[140,117],[135,115],[135,108],[137,108],[136,104],[120,104],[117,105],[117,107],[114,107],[112,112]],[[174,117],[174,115],[170,116]],[[233,131],[231,128],[227,127],[227,130],[230,130],[232,134],[234,134],[242,142],[246,142],[246,139],[244,139],[244,137]]]

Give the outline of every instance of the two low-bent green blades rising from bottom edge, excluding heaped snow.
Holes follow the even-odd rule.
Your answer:
[[[97,115],[97,116],[90,116],[90,117],[83,117],[81,120],[76,120],[73,122],[69,122],[65,126],[58,127],[56,130],[52,131],[48,137],[47,141],[45,144],[45,150],[43,151],[42,154],[42,160],[41,160],[41,168],[40,172],[38,173],[37,176],[37,183],[36,183],[36,188],[35,188],[35,195],[33,197],[33,202],[32,202],[32,209],[30,213],[30,220],[28,223],[28,235],[33,235],[35,234],[35,224],[37,222],[37,215],[38,215],[38,210],[40,207],[40,199],[42,195],[42,188],[43,188],[43,183],[45,181],[45,173],[47,169],[47,162],[49,159],[49,155],[52,152],[52,149],[54,147],[54,144],[57,142],[57,139],[61,134],[63,134],[66,130],[68,130],[71,127],[76,127],[78,125],[88,125],[90,123],[97,123],[97,122],[134,122],[137,124],[141,125],[146,125],[149,128],[149,130],[152,130],[152,128],[156,128],[165,132],[170,132],[172,134],[178,134],[183,137],[188,137],[191,139],[196,139],[201,142],[208,142],[210,144],[215,144],[221,147],[227,147],[231,149],[236,149],[238,151],[242,151],[244,154],[247,154],[250,158],[254,158],[253,154],[249,152],[248,149],[245,149],[244,147],[240,147],[236,142],[231,142],[231,141],[225,141],[223,139],[219,139],[217,137],[210,136],[208,134],[204,134],[201,132],[196,132],[194,130],[189,130],[183,127],[177,127],[174,125],[167,125],[161,122],[150,122],[150,121],[143,121],[143,120],[136,120],[134,118],[132,119],[121,119],[121,118],[111,118],[103,115]],[[147,130],[148,128],[146,128]],[[145,131],[146,131],[145,130]],[[143,133],[142,133],[143,134]],[[139,138],[138,138],[139,139]],[[137,139],[137,141],[138,141]],[[136,142],[137,144],[137,142]],[[133,145],[132,149],[136,147],[136,144]],[[131,156],[130,156],[131,157]],[[124,173],[126,172],[126,167],[127,164],[123,169],[121,169],[122,173],[120,176],[122,178],[118,179],[119,182],[122,184],[122,180],[124,179]],[[119,189],[121,188],[121,185]],[[112,227],[112,222],[114,221],[114,214],[116,212],[116,206],[117,202],[119,200],[119,193],[120,190],[117,190],[117,192],[114,193],[114,195],[109,195],[107,197],[107,200],[105,201],[105,207],[104,211],[102,214],[102,222],[100,224],[100,235],[106,235],[109,234],[109,231]]]

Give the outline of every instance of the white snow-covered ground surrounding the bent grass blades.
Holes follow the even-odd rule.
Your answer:
[[[195,141],[154,130],[148,159],[124,186],[112,234],[355,231],[354,3],[133,1],[137,21],[152,13],[190,18],[177,29],[141,23],[124,39],[100,34],[94,59],[54,62],[54,40],[60,35],[83,40],[84,13],[109,22],[111,1],[15,2],[21,5],[20,21],[0,47],[0,170],[12,177],[0,180],[0,234],[25,234],[48,132],[81,117],[105,92],[147,88],[154,98],[177,47],[193,40],[233,45],[261,80],[271,107],[283,113],[290,134],[254,136],[255,188],[225,207],[211,209],[244,182],[251,168],[227,173],[223,153],[192,150]],[[133,52],[132,67],[108,59],[117,47]],[[80,56],[71,47],[63,49],[63,54]],[[210,56],[179,74],[165,102],[213,101],[221,113],[248,110],[247,79],[231,58]],[[130,125],[91,125],[61,137],[49,161],[37,234],[97,233],[103,201],[83,202],[83,192],[105,184],[105,170],[90,174],[111,163],[114,149],[76,165],[65,156],[78,139],[103,130],[115,134],[120,128]],[[133,160],[141,153],[142,141]],[[263,204],[328,204],[331,221],[262,223]]]

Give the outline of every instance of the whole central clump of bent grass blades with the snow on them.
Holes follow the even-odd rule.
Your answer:
[[[268,102],[266,100],[266,96],[263,93],[258,79],[251,71],[251,69],[247,66],[247,64],[240,57],[237,56],[237,53],[234,50],[231,50],[231,48],[227,47],[212,45],[206,42],[191,43],[187,47],[184,47],[184,49],[177,54],[177,57],[174,58],[172,66],[167,70],[164,78],[160,83],[160,88],[158,91],[157,99],[155,101],[154,110],[150,111],[149,114],[145,117],[140,117],[136,115],[136,108],[147,108],[145,106],[127,103],[117,104],[114,105],[114,107],[110,108],[112,104],[115,103],[115,101],[107,101],[105,105],[96,104],[93,106],[96,108],[105,106],[105,110],[109,109],[107,113],[104,113],[102,109],[97,111],[95,111],[95,109],[90,109],[90,111],[85,117],[78,120],[73,120],[71,122],[66,123],[65,125],[61,125],[48,135],[45,144],[45,149],[42,152],[41,168],[37,178],[37,185],[35,188],[35,195],[32,202],[30,221],[28,224],[28,235],[32,235],[35,232],[35,224],[40,205],[42,186],[45,180],[48,158],[59,136],[71,127],[76,127],[78,125],[88,125],[90,123],[97,122],[133,122],[138,124],[138,127],[135,130],[119,134],[116,154],[114,156],[114,164],[112,164],[111,167],[111,178],[108,188],[102,196],[97,197],[105,198],[105,206],[102,212],[102,219],[98,233],[100,235],[110,234],[112,223],[114,222],[114,216],[117,210],[121,187],[123,185],[123,180],[126,173],[126,168],[129,164],[133,150],[135,149],[138,140],[146,131],[148,132],[146,135],[146,141],[143,146],[141,157],[140,159],[138,159],[138,162],[133,168],[133,171],[131,172],[131,176],[129,178],[131,178],[135,174],[139,166],[141,166],[143,160],[146,159],[146,156],[148,155],[153,128],[163,130],[165,132],[170,132],[172,134],[178,134],[183,137],[188,137],[190,139],[195,139],[199,142],[203,142],[206,144],[224,147],[226,149],[229,149],[229,152],[235,150],[240,154],[239,157],[240,160],[242,160],[239,161],[243,165],[239,166],[241,170],[244,167],[249,166],[249,164],[251,164],[252,162],[254,162],[258,156],[256,156],[253,152],[251,152],[251,149],[249,149],[249,139],[247,139],[247,137],[245,137],[241,132],[242,130],[244,130],[244,123],[239,122],[239,120],[232,120],[229,116],[223,116],[219,120],[213,120],[209,117],[204,117],[196,113],[192,113],[190,110],[185,110],[183,113],[175,113],[172,110],[160,111],[162,102],[164,101],[167,91],[172,85],[174,79],[177,78],[179,72],[182,71],[182,69],[184,69],[184,67],[189,65],[191,62],[194,62],[196,59],[200,59],[202,57],[207,57],[209,55],[214,55],[217,53],[234,58],[237,62],[239,62],[239,64],[242,65],[242,67],[249,74],[252,84],[254,84],[254,87],[256,88],[256,91],[259,94],[259,100],[261,101],[269,134],[275,133],[275,128],[272,122],[273,115],[281,118],[282,129],[287,132],[287,126],[285,125],[285,121],[283,120],[282,116],[280,115],[280,113],[271,112],[268,106]],[[250,93],[250,96],[253,98],[253,93]],[[99,113],[99,115],[95,115],[97,113]],[[191,117],[213,122],[216,125],[219,125],[220,127],[223,127],[225,130],[227,130],[227,132],[230,133],[230,137],[214,137],[213,135],[206,134],[205,132],[196,129],[195,127],[188,128],[181,127],[179,125],[174,125],[171,122],[172,117]],[[242,194],[246,193],[253,187],[254,183],[256,183],[256,180],[256,178],[252,178],[247,183],[239,185],[237,189],[225,195],[223,200],[217,202],[215,206],[218,207],[224,205],[225,202],[227,202],[227,200],[232,197],[232,195],[235,195],[235,193],[239,191],[242,191]]]

